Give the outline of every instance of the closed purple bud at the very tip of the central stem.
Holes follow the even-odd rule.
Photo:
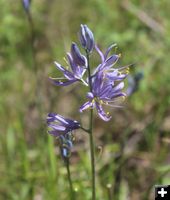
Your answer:
[[[91,53],[94,48],[94,36],[87,25],[81,24],[79,38],[82,47]]]

